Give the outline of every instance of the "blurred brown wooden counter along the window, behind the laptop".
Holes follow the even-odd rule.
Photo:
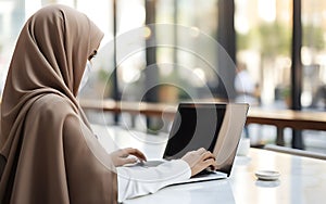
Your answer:
[[[176,104],[116,102],[112,100],[83,100],[80,101],[80,105],[84,110],[95,110],[112,113],[126,112],[130,114],[141,114],[155,117],[164,115],[164,117],[168,117],[171,119],[173,119],[177,111]],[[276,144],[284,145],[284,128],[288,127],[300,130],[311,129],[326,131],[326,113],[250,107],[247,117],[247,124],[275,126],[277,128]]]

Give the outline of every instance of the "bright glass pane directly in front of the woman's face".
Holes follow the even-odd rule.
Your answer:
[[[111,75],[113,64],[113,0],[91,1],[61,0],[64,4],[76,8],[85,13],[103,33],[104,37],[95,59],[91,60],[92,68],[88,81],[80,89],[80,99],[108,99],[112,94]],[[75,4],[73,4],[75,3]]]

